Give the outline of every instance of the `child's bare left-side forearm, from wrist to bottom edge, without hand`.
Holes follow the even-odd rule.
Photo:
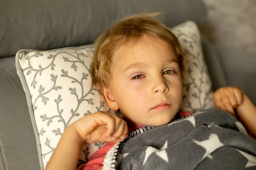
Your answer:
[[[76,130],[67,127],[45,170],[75,170],[83,143]]]

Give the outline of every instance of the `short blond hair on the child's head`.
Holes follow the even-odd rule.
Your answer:
[[[167,26],[152,17],[154,14],[127,17],[98,37],[91,66],[93,85],[108,87],[114,51],[127,42],[136,43],[143,35],[169,42],[175,48],[180,70],[183,71],[184,53],[177,37]]]

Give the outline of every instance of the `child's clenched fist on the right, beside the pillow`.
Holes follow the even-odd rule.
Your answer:
[[[242,102],[243,92],[237,87],[219,88],[213,94],[215,108],[227,111],[236,116],[234,109]]]

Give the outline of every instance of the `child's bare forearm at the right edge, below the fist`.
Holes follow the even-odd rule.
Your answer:
[[[244,125],[247,132],[250,133],[255,139],[256,107],[245,94],[243,94],[243,102],[236,108],[236,116],[239,121]]]

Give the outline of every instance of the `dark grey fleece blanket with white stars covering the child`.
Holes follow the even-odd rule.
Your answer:
[[[207,109],[129,133],[108,151],[103,170],[256,169],[256,142],[231,114]]]

